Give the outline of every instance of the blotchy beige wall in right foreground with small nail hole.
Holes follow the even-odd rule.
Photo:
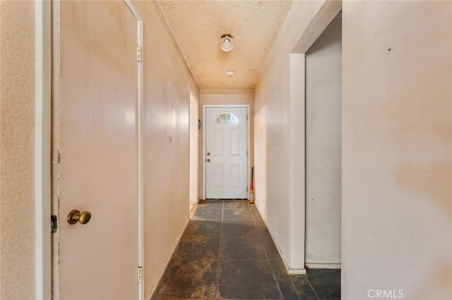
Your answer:
[[[343,299],[452,298],[452,3],[343,4]]]

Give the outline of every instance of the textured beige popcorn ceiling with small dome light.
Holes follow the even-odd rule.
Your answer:
[[[251,89],[280,30],[290,0],[160,0],[200,89]],[[223,34],[234,49],[220,50]],[[225,75],[234,70],[233,76]]]

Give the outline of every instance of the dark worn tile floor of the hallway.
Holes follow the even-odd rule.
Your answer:
[[[153,299],[340,299],[340,270],[288,275],[254,204],[205,200]]]

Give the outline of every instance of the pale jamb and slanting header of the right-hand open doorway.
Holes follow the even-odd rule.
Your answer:
[[[342,1],[326,1],[290,52],[290,228],[298,229],[290,230],[290,274],[306,274],[305,54],[341,10]]]

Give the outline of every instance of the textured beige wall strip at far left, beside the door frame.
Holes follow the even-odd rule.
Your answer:
[[[35,297],[35,5],[0,1],[0,299]]]

